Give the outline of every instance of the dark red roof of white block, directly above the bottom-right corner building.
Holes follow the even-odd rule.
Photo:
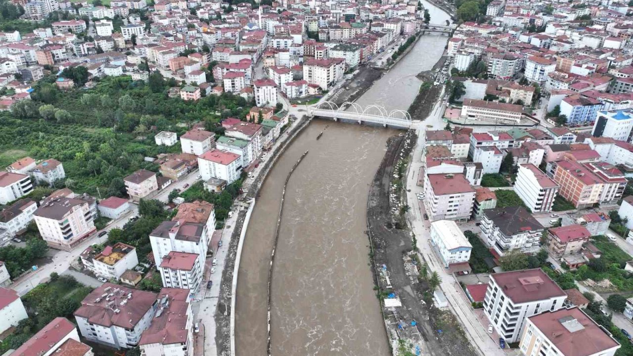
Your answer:
[[[563,289],[560,289],[542,269],[501,272],[491,274],[490,277],[515,304],[566,296]]]

